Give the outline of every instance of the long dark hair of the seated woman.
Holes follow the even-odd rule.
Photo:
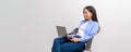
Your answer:
[[[95,8],[92,6],[92,5],[87,5],[87,6],[85,6],[85,8],[83,9],[83,11],[84,11],[85,9],[88,10],[91,13],[93,13],[93,15],[92,15],[92,21],[98,22]]]

